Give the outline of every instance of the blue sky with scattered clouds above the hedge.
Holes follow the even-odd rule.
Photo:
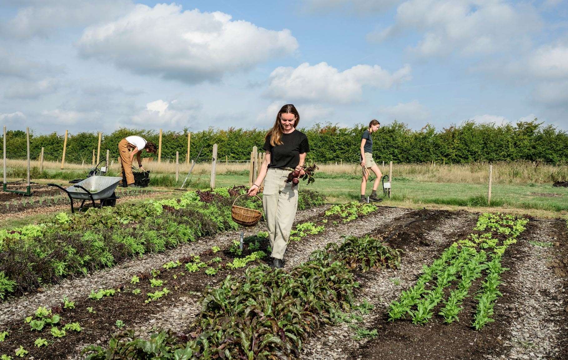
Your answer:
[[[0,0],[0,123],[267,128],[534,117],[568,129],[562,0]]]

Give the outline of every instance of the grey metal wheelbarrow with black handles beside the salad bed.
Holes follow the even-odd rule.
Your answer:
[[[83,200],[79,207],[79,212],[81,212],[83,210],[83,205],[87,200],[91,200],[93,207],[97,208],[102,208],[103,206],[115,206],[116,199],[120,199],[120,197],[116,196],[114,191],[120,180],[122,180],[121,177],[95,175],[69,186],[67,189],[64,189],[57,184],[47,185],[59,187],[59,189],[65,191],[71,202],[71,212],[75,212],[73,199]],[[95,200],[100,200],[101,203],[97,205]]]

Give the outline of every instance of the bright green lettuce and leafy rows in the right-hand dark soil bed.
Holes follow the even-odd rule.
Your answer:
[[[527,219],[516,219],[512,215],[479,216],[474,227],[478,233],[454,242],[432,265],[424,266],[416,284],[390,304],[389,320],[410,318],[414,324],[425,324],[438,309],[438,315],[444,318],[445,323],[460,321],[458,315],[463,310],[463,301],[470,296],[471,285],[485,274],[475,296],[477,310],[471,325],[481,329],[494,321],[491,317],[495,301],[502,296],[499,292],[502,283],[500,274],[508,270],[502,266],[502,256],[509,246],[517,242],[527,223]],[[441,306],[438,307],[438,304]]]

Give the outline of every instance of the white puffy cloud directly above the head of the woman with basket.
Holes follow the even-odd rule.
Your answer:
[[[391,74],[379,65],[356,65],[340,72],[327,62],[304,62],[297,68],[274,69],[268,91],[274,98],[350,103],[360,99],[364,86],[389,89],[410,80],[410,72],[410,65]]]

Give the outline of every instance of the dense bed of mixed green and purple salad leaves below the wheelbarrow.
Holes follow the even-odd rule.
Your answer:
[[[90,209],[84,214],[61,212],[40,224],[0,229],[0,298],[238,229],[231,204],[244,192],[244,187],[188,191],[178,198]],[[320,206],[324,200],[316,192],[300,190],[298,208]],[[262,206],[253,199],[240,204]]]

